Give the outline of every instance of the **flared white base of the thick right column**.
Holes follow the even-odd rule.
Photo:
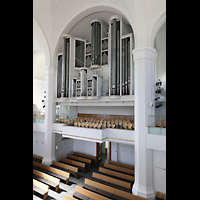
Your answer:
[[[148,200],[155,200],[154,189],[151,186],[146,187],[146,186],[140,185],[137,187],[134,184],[132,188],[132,193],[136,196],[143,197]]]

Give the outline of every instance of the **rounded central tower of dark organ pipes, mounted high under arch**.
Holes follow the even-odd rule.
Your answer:
[[[101,22],[91,22],[91,60],[92,66],[101,65]]]

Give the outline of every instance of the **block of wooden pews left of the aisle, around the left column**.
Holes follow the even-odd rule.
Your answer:
[[[61,180],[68,184],[71,175],[77,178],[78,170],[85,172],[86,167],[97,161],[96,156],[78,152],[68,154],[59,162],[52,161],[50,166],[42,164],[42,159],[42,156],[33,154],[33,193],[39,193],[43,199],[48,197],[49,187],[58,192]]]

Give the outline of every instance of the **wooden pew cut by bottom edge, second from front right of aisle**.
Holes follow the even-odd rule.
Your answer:
[[[84,188],[81,188],[79,186],[76,186],[75,193],[73,194],[73,197],[77,197],[79,199],[83,200],[89,200],[94,199],[94,200],[109,200],[108,198],[101,196],[99,194],[96,194],[94,192],[91,192],[89,190],[86,190]]]

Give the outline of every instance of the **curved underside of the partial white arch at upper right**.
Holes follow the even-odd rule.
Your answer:
[[[158,20],[155,22],[151,34],[150,34],[150,45],[151,47],[154,47],[154,40],[156,37],[156,34],[158,33],[160,27],[166,22],[166,11],[158,18]]]

